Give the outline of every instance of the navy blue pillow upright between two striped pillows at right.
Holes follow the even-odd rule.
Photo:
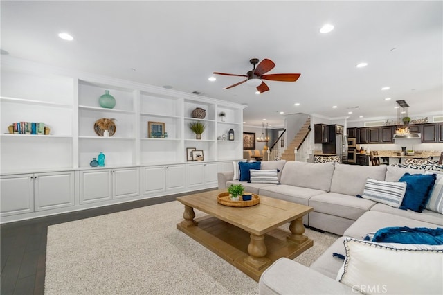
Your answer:
[[[405,173],[399,182],[406,182],[406,193],[400,209],[410,209],[415,212],[422,212],[424,206],[431,197],[431,191],[435,184],[436,175],[422,175]]]

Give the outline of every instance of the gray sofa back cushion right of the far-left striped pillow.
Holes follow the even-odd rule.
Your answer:
[[[329,192],[333,172],[334,163],[289,161],[284,164],[280,183]]]

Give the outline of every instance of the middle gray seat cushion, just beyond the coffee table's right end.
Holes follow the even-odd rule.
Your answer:
[[[309,206],[314,207],[315,212],[341,216],[350,220],[356,220],[369,211],[374,204],[375,202],[369,199],[338,193],[324,193],[309,199]]]

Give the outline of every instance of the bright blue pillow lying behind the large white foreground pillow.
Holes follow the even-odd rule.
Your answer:
[[[379,229],[372,238],[372,242],[399,243],[399,244],[443,244],[443,228],[428,229],[408,226],[395,226]]]

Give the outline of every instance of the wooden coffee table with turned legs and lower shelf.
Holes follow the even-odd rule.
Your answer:
[[[293,259],[312,247],[312,240],[303,235],[302,223],[312,207],[264,196],[255,206],[224,206],[217,202],[219,193],[224,192],[177,197],[185,205],[184,220],[177,229],[257,281],[278,258]],[[208,215],[195,219],[194,208]],[[287,222],[291,222],[290,233],[278,229]]]

